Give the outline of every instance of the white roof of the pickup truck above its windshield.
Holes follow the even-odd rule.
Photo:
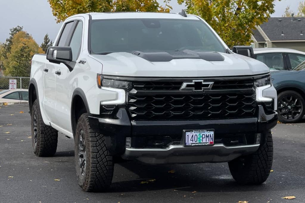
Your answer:
[[[92,16],[92,20],[98,19],[127,19],[127,18],[163,18],[163,19],[189,19],[200,20],[197,16],[187,14],[187,17],[178,13],[161,13],[161,12],[104,12],[104,13],[87,13]]]

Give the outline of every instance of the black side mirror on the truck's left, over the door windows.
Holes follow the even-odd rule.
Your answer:
[[[51,63],[68,64],[72,62],[72,49],[71,47],[49,47],[47,60]]]

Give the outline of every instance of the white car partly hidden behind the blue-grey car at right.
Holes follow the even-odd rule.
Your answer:
[[[287,48],[254,48],[255,58],[266,64],[270,70],[294,69],[305,61],[305,52]]]

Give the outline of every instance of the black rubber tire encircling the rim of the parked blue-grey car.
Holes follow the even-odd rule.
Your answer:
[[[300,114],[296,118],[294,118],[294,119],[291,119],[291,118],[290,119],[286,119],[286,118],[284,118],[281,115],[281,112],[279,110],[279,107],[281,105],[280,102],[281,102],[282,98],[284,98],[285,96],[292,96],[293,98],[297,98],[300,101],[300,103],[299,103],[301,105]],[[281,123],[296,123],[296,122],[299,122],[303,118],[304,112],[305,112],[305,102],[304,102],[304,98],[302,97],[301,94],[299,94],[296,91],[291,91],[291,90],[283,91],[283,92],[278,94],[278,120]]]

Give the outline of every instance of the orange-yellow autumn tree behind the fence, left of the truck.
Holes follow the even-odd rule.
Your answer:
[[[44,53],[33,37],[20,31],[12,38],[11,50],[4,61],[4,74],[8,76],[30,77],[31,59],[36,53]]]

